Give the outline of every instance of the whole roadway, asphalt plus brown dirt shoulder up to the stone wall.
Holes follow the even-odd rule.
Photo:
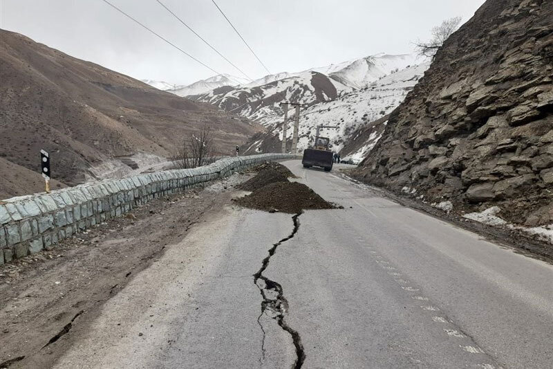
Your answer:
[[[17,264],[0,368],[551,367],[552,264],[283,164],[343,208],[241,208],[235,174]]]

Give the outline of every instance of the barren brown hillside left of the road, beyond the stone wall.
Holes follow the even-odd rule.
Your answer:
[[[53,154],[55,178],[74,184],[91,165],[113,156],[169,156],[204,123],[213,127],[221,154],[232,154],[261,130],[245,118],[0,30],[0,156],[6,161],[36,171],[44,148]]]

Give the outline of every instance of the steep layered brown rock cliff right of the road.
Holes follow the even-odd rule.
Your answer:
[[[357,176],[552,224],[552,19],[550,0],[488,0],[393,111]]]

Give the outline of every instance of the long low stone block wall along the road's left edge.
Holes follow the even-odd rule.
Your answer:
[[[259,163],[293,159],[288,154],[225,158],[194,169],[165,170],[106,179],[0,201],[0,265],[37,253],[156,197],[226,177]]]

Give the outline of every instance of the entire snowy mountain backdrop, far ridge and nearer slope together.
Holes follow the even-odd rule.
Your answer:
[[[377,142],[385,125],[382,118],[400,105],[428,66],[429,62],[415,54],[377,54],[298,73],[266,75],[254,81],[217,75],[169,92],[209,102],[265,125],[268,132],[257,134],[243,147],[247,153],[280,151],[280,103],[300,103],[304,105],[299,127],[300,152],[310,145],[317,125],[336,125],[336,129],[326,129],[322,134],[330,137],[332,150],[344,149],[343,157],[357,161]],[[293,115],[292,109],[288,123],[290,142]],[[366,142],[361,144],[360,138],[366,138]]]

